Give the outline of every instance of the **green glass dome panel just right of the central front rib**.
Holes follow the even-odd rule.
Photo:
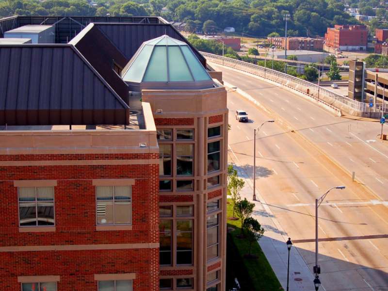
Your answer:
[[[169,81],[194,81],[178,46],[168,47],[168,69]]]

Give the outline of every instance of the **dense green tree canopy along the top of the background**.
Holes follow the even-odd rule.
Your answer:
[[[369,6],[363,9],[368,11]],[[94,0],[93,4],[87,0],[0,0],[0,16],[156,15],[185,22],[193,32],[234,27],[236,32],[255,36],[284,35],[285,13],[291,15],[289,35],[323,35],[334,24],[357,23],[341,2],[333,0]],[[378,14],[386,16],[383,10]]]

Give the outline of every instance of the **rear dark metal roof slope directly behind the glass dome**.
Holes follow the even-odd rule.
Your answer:
[[[201,64],[206,67],[206,59],[171,24],[137,23],[95,23],[126,58],[131,59],[143,42],[164,34],[187,43]]]

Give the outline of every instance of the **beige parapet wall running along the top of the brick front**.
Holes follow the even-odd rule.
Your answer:
[[[159,153],[150,104],[142,105],[145,129],[0,130],[0,155]]]

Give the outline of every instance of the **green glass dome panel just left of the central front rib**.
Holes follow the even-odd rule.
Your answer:
[[[152,53],[151,59],[149,60],[143,81],[167,82],[166,47],[154,47],[154,52]]]

